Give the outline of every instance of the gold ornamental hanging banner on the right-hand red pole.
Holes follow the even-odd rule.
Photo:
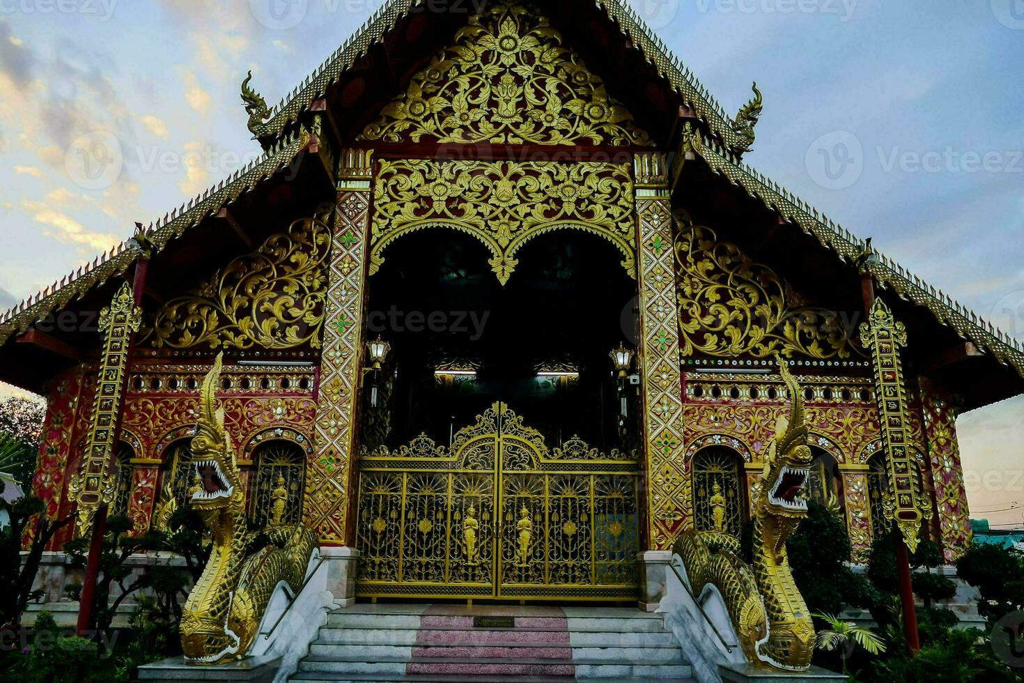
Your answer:
[[[913,552],[928,501],[922,496],[921,472],[915,469],[908,433],[906,386],[899,354],[900,347],[906,346],[906,328],[896,322],[881,298],[871,305],[868,322],[860,324],[860,343],[870,350],[874,367],[874,395],[889,466],[886,516],[896,522],[907,548]]]

